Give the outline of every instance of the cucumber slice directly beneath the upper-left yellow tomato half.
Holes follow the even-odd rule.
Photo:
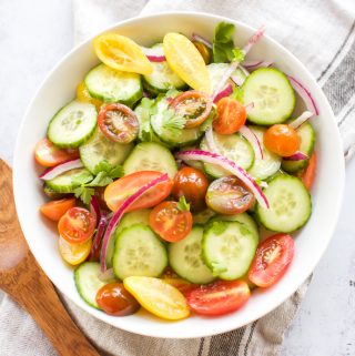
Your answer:
[[[91,96],[105,102],[120,102],[133,105],[143,95],[141,75],[121,72],[101,63],[84,79]]]

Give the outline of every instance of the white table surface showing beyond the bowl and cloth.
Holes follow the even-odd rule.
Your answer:
[[[70,0],[0,0],[0,156],[10,163],[27,105],[73,45],[71,6]],[[355,355],[355,159],[346,175],[336,233],[285,335],[282,356]]]

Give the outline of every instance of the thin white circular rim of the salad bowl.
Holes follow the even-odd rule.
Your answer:
[[[19,166],[21,163],[19,161],[19,156],[20,156],[20,150],[21,150],[21,142],[20,142],[20,135],[21,132],[23,131],[23,126],[24,123],[27,121],[27,116],[29,115],[33,103],[37,101],[37,96],[39,95],[42,87],[47,83],[47,81],[50,80],[50,78],[52,77],[52,74],[62,65],[63,62],[65,62],[68,60],[68,58],[70,58],[74,52],[80,51],[81,48],[85,44],[88,44],[89,42],[92,42],[92,40],[99,35],[100,33],[104,33],[106,31],[110,30],[115,30],[118,27],[120,26],[124,26],[124,24],[130,24],[130,23],[134,23],[136,21],[141,21],[143,19],[159,19],[159,18],[164,18],[166,16],[185,16],[185,17],[202,17],[202,18],[210,18],[210,19],[214,19],[214,20],[219,20],[219,21],[227,21],[227,22],[232,22],[234,23],[236,27],[241,26],[250,31],[256,31],[255,28],[246,24],[243,21],[239,21],[239,20],[234,20],[224,16],[217,16],[217,14],[212,14],[212,13],[207,13],[207,12],[200,12],[200,11],[164,11],[164,12],[159,12],[159,13],[152,13],[152,14],[146,14],[146,16],[138,16],[134,18],[130,18],[123,21],[118,21],[115,23],[112,23],[108,27],[105,27],[104,29],[101,29],[100,31],[94,32],[94,34],[91,34],[89,38],[80,41],[78,44],[75,44],[67,54],[64,54],[58,62],[57,64],[49,71],[49,73],[45,75],[45,78],[42,80],[42,82],[38,85],[37,91],[34,92],[30,103],[27,106],[26,113],[22,118],[19,131],[18,131],[18,135],[17,135],[17,141],[16,141],[16,148],[14,148],[14,155],[13,155],[13,177],[12,177],[12,182],[13,182],[13,194],[14,194],[14,202],[16,202],[16,208],[18,212],[18,216],[19,216],[19,221],[20,221],[20,225],[21,227],[24,225],[22,224],[22,221],[24,220],[24,216],[22,214],[20,214],[19,212],[21,211],[21,208],[19,207],[21,204],[21,196],[18,193],[18,189],[17,186],[20,184],[20,176],[18,174],[18,169],[17,166]],[[293,58],[293,60],[297,63],[297,65],[300,68],[302,68],[302,70],[307,74],[307,80],[311,81],[313,83],[313,85],[315,85],[318,90],[318,93],[321,96],[323,96],[323,101],[324,101],[324,110],[329,114],[329,116],[332,118],[333,124],[337,128],[336,124],[336,119],[334,116],[333,110],[331,108],[331,104],[328,103],[327,98],[325,96],[322,88],[318,85],[318,83],[315,81],[315,79],[313,78],[313,75],[311,74],[311,72],[306,69],[306,67],[290,51],[287,50],[285,47],[283,47],[281,43],[278,43],[276,40],[274,40],[273,38],[271,38],[267,34],[264,34],[264,37],[267,39],[267,41],[270,41],[274,47],[277,48],[277,50],[280,50],[281,52],[287,53],[290,57]],[[336,130],[337,132],[335,133],[335,141],[332,142],[332,144],[337,149],[337,153],[342,153],[342,143],[341,143],[341,135],[339,135],[339,131]],[[313,258],[313,263],[310,265],[310,275],[313,273],[315,266],[317,265],[317,263],[320,262],[320,260],[322,258],[322,256],[324,255],[325,250],[327,248],[331,238],[333,237],[336,224],[338,222],[338,217],[341,214],[341,207],[342,207],[342,202],[343,202],[343,196],[344,196],[344,187],[345,187],[345,163],[343,160],[343,154],[342,154],[342,160],[339,163],[339,171],[337,172],[338,174],[338,182],[337,185],[339,185],[339,192],[341,194],[337,197],[337,201],[334,202],[333,207],[334,207],[334,215],[333,215],[333,222],[331,224],[329,227],[329,233],[327,234],[327,238],[324,242],[324,244],[322,245],[322,247],[320,248],[318,255],[316,258]],[[23,217],[22,217],[23,216]],[[23,235],[27,236],[27,231],[26,228],[23,228]],[[32,248],[32,244],[30,243],[30,240],[28,240],[26,237],[27,242],[29,243],[30,250],[36,258],[36,261],[39,263],[39,265],[41,266],[41,268],[43,269],[44,274],[50,278],[50,281],[57,286],[57,288],[68,298],[70,299],[75,306],[78,306],[80,309],[85,311],[87,313],[89,313],[91,316],[123,330],[126,332],[131,332],[138,335],[143,335],[143,336],[151,336],[151,337],[160,337],[160,338],[181,338],[181,339],[187,339],[187,338],[196,338],[196,337],[206,337],[206,336],[212,336],[212,335],[217,335],[221,333],[226,333],[226,332],[231,332],[234,330],[239,327],[243,327],[247,324],[251,324],[253,322],[255,322],[258,318],[262,318],[263,316],[265,316],[266,314],[271,313],[273,309],[275,309],[276,307],[278,307],[281,304],[283,304],[287,298],[290,298],[290,296],[292,294],[294,294],[300,286],[307,279],[307,277],[310,276],[308,274],[303,276],[302,278],[300,278],[300,283],[297,283],[297,287],[296,288],[288,288],[288,291],[284,294],[282,294],[282,297],[278,298],[274,298],[273,303],[270,303],[270,305],[267,305],[267,307],[263,308],[263,312],[260,313],[258,316],[256,317],[250,317],[246,318],[246,321],[241,324],[241,325],[229,325],[226,327],[216,327],[213,332],[209,332],[209,333],[204,333],[203,330],[195,330],[195,333],[190,336],[190,335],[156,335],[155,333],[150,332],[149,329],[144,329],[144,328],[134,328],[134,327],[119,327],[116,325],[113,325],[112,323],[110,323],[103,314],[101,313],[95,313],[95,311],[93,311],[93,308],[89,305],[79,305],[79,303],[77,303],[77,301],[74,301],[71,295],[68,293],[68,291],[63,291],[59,287],[59,285],[55,283],[54,278],[51,278],[51,273],[47,272],[42,264],[40,263],[40,261],[38,261],[37,256],[36,256],[36,248]],[[98,312],[98,311],[97,311]],[[222,324],[220,324],[222,325]]]

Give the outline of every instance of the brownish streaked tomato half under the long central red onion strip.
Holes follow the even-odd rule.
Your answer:
[[[254,194],[236,176],[222,176],[207,190],[206,204],[220,214],[240,214],[254,203]]]

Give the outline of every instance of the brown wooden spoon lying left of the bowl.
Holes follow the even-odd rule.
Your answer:
[[[60,355],[100,356],[73,323],[23,237],[11,169],[0,160],[0,288],[37,321]]]

